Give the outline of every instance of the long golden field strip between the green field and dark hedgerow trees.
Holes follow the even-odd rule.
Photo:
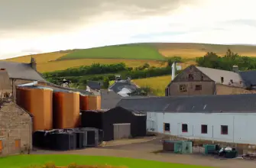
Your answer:
[[[37,69],[41,73],[51,72],[55,70],[63,70],[76,66],[89,66],[92,63],[112,64],[112,63],[125,63],[128,67],[142,66],[144,63],[149,63],[151,66],[165,66],[166,64],[161,61],[155,60],[119,60],[119,59],[79,59],[79,60],[61,60],[52,61],[48,63],[38,63]]]

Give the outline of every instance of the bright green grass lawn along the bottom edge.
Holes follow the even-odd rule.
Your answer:
[[[43,165],[54,162],[56,166],[67,166],[70,163],[78,165],[112,165],[127,166],[128,168],[207,168],[206,166],[190,166],[176,163],[164,163],[151,160],[135,160],[120,157],[94,157],[82,155],[19,155],[0,157],[2,168],[22,168],[26,166]],[[209,168],[209,167],[208,167]]]

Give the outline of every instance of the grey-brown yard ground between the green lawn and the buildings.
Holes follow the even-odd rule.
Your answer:
[[[127,140],[128,142],[128,140]],[[117,144],[117,143],[116,143]],[[222,168],[254,168],[255,161],[247,161],[241,159],[215,159],[211,156],[203,156],[201,154],[174,154],[174,153],[154,153],[162,149],[160,139],[144,141],[133,144],[119,144],[111,147],[87,148],[84,150],[70,150],[66,152],[53,152],[38,150],[37,153],[66,153],[66,154],[81,154],[92,156],[112,156],[112,157],[131,157],[144,160],[158,160],[162,162],[184,163],[202,166],[213,166]]]

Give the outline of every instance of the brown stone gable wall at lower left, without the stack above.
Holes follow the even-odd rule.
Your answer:
[[[1,150],[2,148],[2,150]],[[0,157],[32,149],[32,118],[14,102],[0,108]]]

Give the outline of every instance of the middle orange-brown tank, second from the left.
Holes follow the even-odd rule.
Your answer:
[[[79,92],[53,92],[53,128],[79,126]]]

